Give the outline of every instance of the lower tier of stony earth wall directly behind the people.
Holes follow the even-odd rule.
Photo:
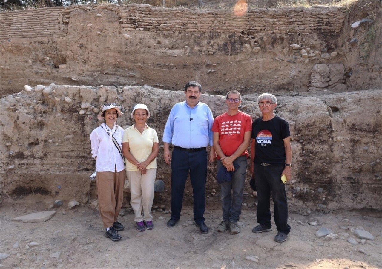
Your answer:
[[[286,185],[294,211],[306,208],[380,209],[382,90],[334,93],[320,97],[278,97],[277,114],[290,123],[293,181]],[[241,109],[257,118],[257,95],[243,96]],[[172,106],[184,92],[152,87],[85,87],[50,85],[22,90],[0,100],[0,197],[42,193],[62,200],[93,201],[89,175],[94,171],[89,134],[100,123],[97,107],[117,102],[129,117],[136,103],[145,103],[160,144]],[[203,94],[214,116],[226,110],[224,97]],[[367,107],[367,110],[365,110]],[[157,179],[165,182],[164,203],[171,198],[171,169],[158,155]],[[219,192],[216,167],[209,164],[206,192]],[[250,175],[247,175],[248,179]],[[189,188],[189,187],[188,187]],[[251,193],[248,182],[246,192]],[[192,192],[185,199],[192,200]],[[219,203],[219,195],[216,197]]]

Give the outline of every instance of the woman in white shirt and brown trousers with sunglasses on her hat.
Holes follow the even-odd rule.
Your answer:
[[[101,106],[97,119],[104,121],[90,134],[92,157],[97,171],[99,212],[106,228],[105,236],[113,241],[122,237],[118,231],[125,227],[117,221],[125,185],[125,164],[122,157],[123,129],[117,125],[123,113],[115,103]]]

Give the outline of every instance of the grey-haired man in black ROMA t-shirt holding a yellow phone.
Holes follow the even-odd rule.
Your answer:
[[[257,222],[254,233],[272,230],[270,223],[270,193],[275,208],[277,228],[276,242],[284,242],[290,232],[288,225],[288,202],[285,184],[291,178],[292,151],[288,122],[274,114],[277,98],[270,93],[263,93],[257,98],[262,116],[252,124],[251,172],[255,177],[257,190]]]

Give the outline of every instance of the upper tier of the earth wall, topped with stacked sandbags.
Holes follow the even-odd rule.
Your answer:
[[[349,90],[380,87],[380,20],[350,27],[380,16],[380,3],[371,6],[250,9],[242,16],[147,4],[2,12],[0,95],[50,82],[178,90],[190,79],[209,93],[293,94],[308,90],[317,63],[343,63]],[[353,38],[359,42],[350,45]]]

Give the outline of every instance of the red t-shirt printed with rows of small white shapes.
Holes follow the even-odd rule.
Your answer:
[[[242,111],[234,116],[227,112],[217,116],[212,125],[212,132],[219,133],[219,145],[225,156],[231,156],[244,141],[244,133],[252,131],[252,117]],[[248,150],[243,154],[248,158]],[[219,156],[217,156],[220,159]]]

